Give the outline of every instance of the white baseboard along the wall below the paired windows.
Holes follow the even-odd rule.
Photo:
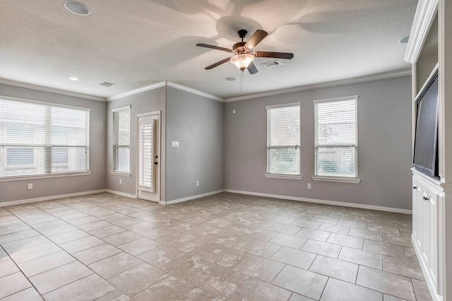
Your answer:
[[[273,198],[273,199],[285,199],[290,201],[306,201],[309,203],[324,203],[326,205],[333,205],[333,206],[344,206],[344,207],[352,207],[352,208],[362,208],[362,209],[371,209],[371,210],[378,210],[378,211],[388,211],[388,212],[395,212],[395,213],[405,213],[405,214],[412,214],[411,210],[408,209],[402,209],[402,208],[392,208],[392,207],[384,207],[384,206],[374,206],[374,205],[365,205],[362,203],[347,203],[343,201],[328,201],[328,200],[321,200],[321,199],[307,199],[302,198],[299,196],[280,196],[277,194],[261,194],[259,192],[251,192],[251,191],[239,191],[239,190],[232,190],[232,189],[225,189],[225,192],[230,192],[232,194],[248,194],[251,196],[264,196],[267,198]]]

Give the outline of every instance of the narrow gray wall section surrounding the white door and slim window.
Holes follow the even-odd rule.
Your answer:
[[[143,93],[112,100],[107,105],[107,179],[106,188],[113,191],[118,191],[124,194],[136,195],[136,128],[137,128],[137,114],[161,111],[160,122],[162,124],[162,145],[161,145],[161,160],[160,160],[160,191],[162,200],[165,200],[165,87],[148,90]],[[120,175],[112,175],[113,170],[113,109],[117,107],[124,107],[131,105],[131,136],[130,136],[130,171],[131,177],[124,177]],[[122,179],[122,184],[119,184],[119,179]]]

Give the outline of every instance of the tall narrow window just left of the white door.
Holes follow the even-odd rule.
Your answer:
[[[113,110],[113,172],[130,173],[130,106]]]

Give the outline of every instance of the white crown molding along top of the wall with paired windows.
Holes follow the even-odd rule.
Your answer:
[[[237,96],[235,98],[225,98],[225,100],[223,100],[223,101],[224,102],[234,102],[234,101],[240,101],[240,100],[248,100],[251,98],[263,98],[266,96],[294,93],[294,92],[300,92],[300,91],[306,91],[306,90],[314,90],[314,89],[319,89],[319,88],[329,88],[329,87],[335,87],[337,85],[350,85],[352,83],[364,83],[367,81],[379,81],[381,79],[395,78],[395,77],[400,77],[400,76],[410,76],[410,75],[411,75],[411,69],[407,69],[407,70],[393,71],[393,72],[387,72],[387,73],[379,73],[379,74],[374,74],[374,75],[370,75],[370,76],[362,76],[362,77],[358,77],[358,78],[341,79],[339,81],[328,81],[326,83],[314,83],[312,85],[302,85],[302,86],[294,87],[294,88],[287,88],[287,89],[273,90],[273,91],[268,91],[268,92],[263,92],[263,93]]]

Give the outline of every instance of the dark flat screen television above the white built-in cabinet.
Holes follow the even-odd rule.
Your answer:
[[[416,130],[413,167],[439,178],[438,170],[438,68],[430,74],[415,99]]]

